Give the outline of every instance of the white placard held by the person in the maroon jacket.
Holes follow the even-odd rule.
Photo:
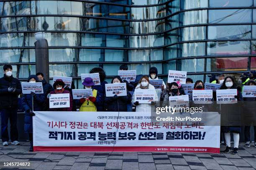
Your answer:
[[[69,93],[51,94],[49,98],[50,108],[70,107]]]

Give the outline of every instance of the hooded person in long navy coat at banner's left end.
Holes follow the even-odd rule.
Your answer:
[[[28,77],[27,82],[38,82],[38,78],[36,75],[30,75]],[[25,110],[24,132],[28,133],[28,136],[29,136],[29,141],[30,141],[29,151],[30,152],[33,152],[33,119],[32,119],[32,116],[35,115],[33,113],[33,111],[44,111],[43,104],[44,104],[45,98],[46,97],[44,94],[36,94],[34,92],[31,92],[31,94],[23,94],[22,99],[21,99],[23,108]]]

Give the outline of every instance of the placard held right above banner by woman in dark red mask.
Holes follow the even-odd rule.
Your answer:
[[[192,99],[194,103],[210,104],[212,103],[212,90],[192,90]]]

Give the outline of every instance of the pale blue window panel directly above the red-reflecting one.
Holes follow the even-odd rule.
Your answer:
[[[207,55],[250,54],[250,41],[207,42]]]

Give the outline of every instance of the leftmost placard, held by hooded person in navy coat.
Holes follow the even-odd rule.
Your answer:
[[[21,88],[23,94],[44,94],[42,82],[21,82]]]

